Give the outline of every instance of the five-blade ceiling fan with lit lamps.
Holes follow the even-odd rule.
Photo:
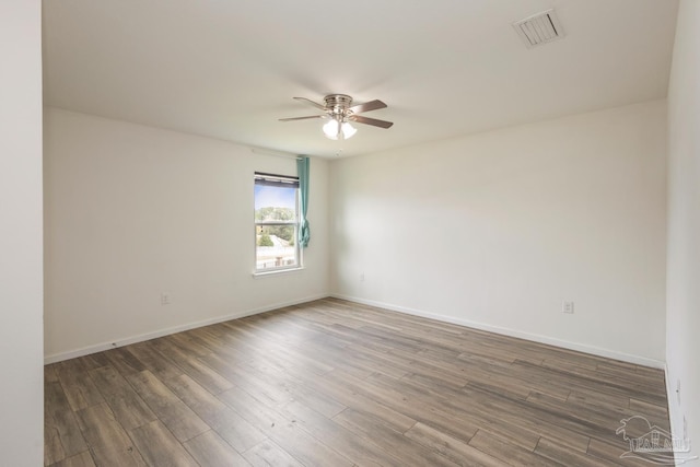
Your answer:
[[[306,97],[294,97],[299,102],[303,102],[319,110],[325,112],[323,115],[312,115],[308,117],[291,117],[280,118],[280,121],[292,120],[306,120],[310,118],[328,118],[328,122],[324,125],[324,133],[326,137],[337,139],[348,139],[352,137],[357,129],[350,125],[351,121],[364,125],[372,125],[373,127],[389,128],[394,122],[386,120],[377,120],[376,118],[364,117],[361,114],[363,112],[376,110],[380,108],[386,108],[386,104],[382,101],[374,100],[365,102],[364,104],[352,105],[352,97],[346,94],[328,94],[324,97],[324,104],[315,103]]]

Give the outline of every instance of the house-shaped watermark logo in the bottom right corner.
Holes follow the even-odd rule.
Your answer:
[[[641,416],[620,420],[620,428],[615,432],[630,443],[630,450],[622,453],[621,458],[634,458],[656,465],[677,465],[697,459],[690,456],[690,442],[679,440],[662,428],[651,424]]]

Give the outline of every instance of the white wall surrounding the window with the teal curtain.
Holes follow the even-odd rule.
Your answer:
[[[46,109],[47,361],[328,294],[328,163],[299,272],[254,279],[253,174],[289,157]],[[161,292],[172,304],[161,305]]]

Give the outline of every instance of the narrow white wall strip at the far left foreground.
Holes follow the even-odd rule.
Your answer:
[[[0,2],[0,465],[40,466],[42,3]]]

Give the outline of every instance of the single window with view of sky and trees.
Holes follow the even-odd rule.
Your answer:
[[[301,267],[299,178],[255,173],[255,272]]]

